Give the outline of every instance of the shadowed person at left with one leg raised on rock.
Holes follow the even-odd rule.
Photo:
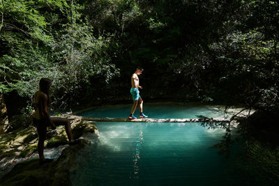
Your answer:
[[[72,130],[70,127],[70,121],[66,118],[50,117],[50,86],[52,82],[50,79],[40,79],[40,89],[33,95],[33,107],[35,113],[33,114],[33,124],[36,125],[38,131],[38,153],[40,157],[40,164],[45,162],[52,162],[53,159],[45,159],[43,155],[43,148],[45,142],[45,135],[47,133],[47,127],[56,129],[56,125],[64,125],[69,139],[69,144],[80,144],[80,141],[74,140],[72,137]]]

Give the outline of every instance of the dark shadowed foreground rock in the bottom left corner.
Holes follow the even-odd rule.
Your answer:
[[[65,148],[58,160],[40,165],[39,160],[29,160],[15,165],[12,171],[0,179],[2,186],[68,186],[70,170],[75,166],[75,155],[86,144],[85,140],[75,146]]]

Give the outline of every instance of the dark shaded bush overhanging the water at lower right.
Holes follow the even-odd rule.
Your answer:
[[[248,115],[239,116],[244,110],[232,115],[229,122],[197,117],[207,129],[225,129],[220,143],[212,147],[228,159],[234,156],[231,169],[239,173],[238,185],[278,185],[279,127],[274,123],[278,114],[258,111],[250,115],[249,109]]]

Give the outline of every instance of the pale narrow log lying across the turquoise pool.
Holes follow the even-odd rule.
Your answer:
[[[70,120],[96,121],[96,122],[146,122],[146,123],[197,123],[197,122],[229,122],[226,118],[90,118],[85,116],[68,116]]]

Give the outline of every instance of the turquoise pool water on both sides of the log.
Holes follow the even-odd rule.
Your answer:
[[[127,117],[131,105],[100,107],[80,114]],[[223,116],[209,106],[146,104],[151,118]],[[228,160],[211,148],[224,129],[200,123],[97,123],[100,137],[77,155],[73,185],[227,185],[235,174]]]

